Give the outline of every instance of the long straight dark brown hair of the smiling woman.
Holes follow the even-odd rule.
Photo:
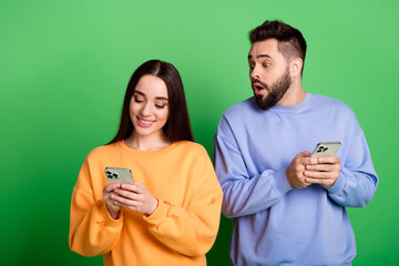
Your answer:
[[[183,82],[178,71],[171,63],[160,60],[150,60],[140,65],[129,81],[123,101],[121,123],[116,135],[108,144],[125,140],[132,134],[133,123],[129,113],[130,102],[133,92],[143,75],[155,75],[162,79],[166,84],[170,114],[168,120],[162,130],[167,139],[171,142],[194,141]]]

